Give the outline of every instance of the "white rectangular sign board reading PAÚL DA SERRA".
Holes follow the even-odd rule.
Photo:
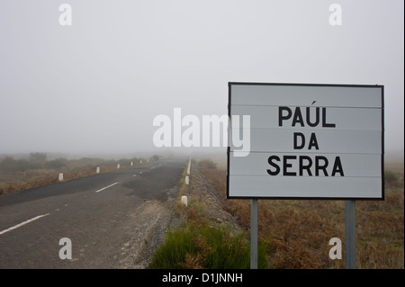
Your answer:
[[[229,119],[228,198],[383,200],[383,85],[229,83]]]

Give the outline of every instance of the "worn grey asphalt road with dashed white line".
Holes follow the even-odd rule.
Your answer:
[[[184,158],[0,196],[0,268],[116,268],[146,201],[165,202]],[[72,259],[60,259],[61,238]],[[65,251],[64,254],[67,254]]]

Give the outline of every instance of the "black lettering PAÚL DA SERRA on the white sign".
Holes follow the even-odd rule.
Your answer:
[[[313,104],[313,103],[312,103]],[[327,120],[327,108],[325,107],[278,107],[278,126],[284,127],[302,127],[324,129],[336,128],[336,123]],[[319,150],[316,132],[311,132],[310,139],[307,140],[302,132],[293,132],[293,149],[300,150]],[[270,168],[267,169],[268,175],[284,176],[345,176],[340,157],[334,157],[332,160],[325,156],[293,156],[284,155],[270,156],[267,159]]]

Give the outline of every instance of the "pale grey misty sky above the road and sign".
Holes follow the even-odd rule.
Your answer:
[[[63,3],[71,26],[58,22]],[[402,0],[0,0],[0,154],[153,148],[159,114],[227,114],[228,82],[384,85],[385,150],[403,150],[403,11]]]

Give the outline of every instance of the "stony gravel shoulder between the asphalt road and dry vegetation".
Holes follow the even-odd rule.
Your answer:
[[[207,182],[197,166],[192,166],[190,184],[185,185],[185,194],[188,204],[198,202],[204,210],[204,215],[211,225],[230,228],[232,232],[240,231],[238,220],[224,211],[220,202],[219,193]],[[180,201],[179,191],[181,184],[167,191],[166,202],[147,200],[143,202],[133,216],[138,217],[129,242],[121,248],[121,259],[117,268],[145,269],[159,247],[165,241],[169,229],[180,226],[184,219],[184,209],[181,214],[176,211],[177,202]]]

